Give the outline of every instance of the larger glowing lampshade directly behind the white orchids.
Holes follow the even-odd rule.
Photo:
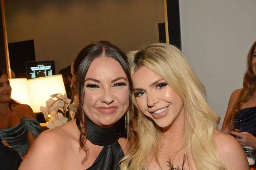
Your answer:
[[[66,93],[61,74],[29,79],[28,88],[31,107],[35,113],[40,112],[40,106],[45,106],[45,101],[50,99],[52,94]]]

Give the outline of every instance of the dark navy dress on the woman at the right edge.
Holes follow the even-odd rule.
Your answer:
[[[241,119],[241,132],[256,136],[256,106],[239,110],[236,119]]]

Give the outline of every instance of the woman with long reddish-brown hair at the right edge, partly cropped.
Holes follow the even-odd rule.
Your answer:
[[[247,70],[243,78],[243,88],[235,90],[229,99],[228,109],[222,130],[230,132],[232,119],[241,119],[241,133],[230,132],[237,136],[243,146],[256,148],[256,41],[247,56]]]

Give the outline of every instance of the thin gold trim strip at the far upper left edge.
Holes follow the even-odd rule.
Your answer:
[[[6,68],[7,68],[7,75],[8,78],[11,79],[11,65],[9,60],[9,50],[8,50],[8,41],[7,41],[7,32],[6,32],[6,16],[4,12],[4,0],[0,0],[1,2],[1,11],[2,11],[2,24],[3,24],[3,31],[4,31],[4,49],[6,55]]]

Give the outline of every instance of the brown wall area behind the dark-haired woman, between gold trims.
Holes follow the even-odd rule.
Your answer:
[[[127,52],[159,42],[163,0],[5,0],[8,42],[34,40],[35,58],[71,65],[85,45],[108,40]]]

